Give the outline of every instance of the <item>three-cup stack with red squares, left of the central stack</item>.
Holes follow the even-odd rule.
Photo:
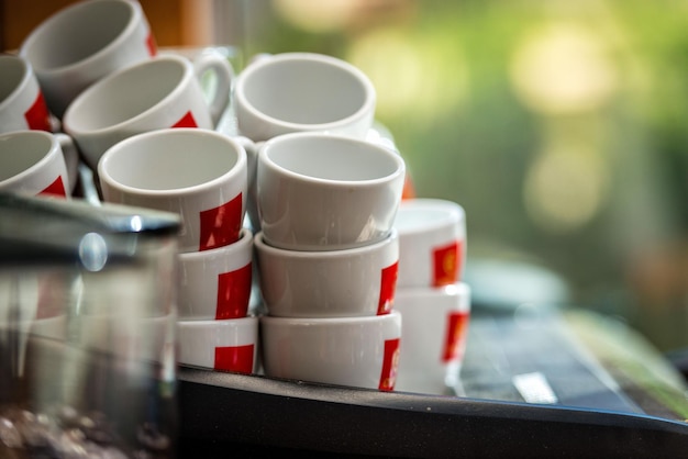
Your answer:
[[[177,298],[181,365],[253,373],[253,234],[243,227],[246,152],[203,128],[167,128],[115,144],[98,167],[106,201],[181,216]]]

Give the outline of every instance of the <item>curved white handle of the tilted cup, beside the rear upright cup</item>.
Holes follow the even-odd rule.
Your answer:
[[[202,81],[206,72],[210,71],[214,76],[214,89],[210,94],[208,105],[213,126],[218,125],[222,113],[230,104],[230,93],[234,82],[234,69],[225,56],[220,53],[209,51],[199,54],[193,59],[196,78]]]

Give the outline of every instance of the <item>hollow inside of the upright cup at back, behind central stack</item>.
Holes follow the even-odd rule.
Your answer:
[[[243,86],[246,102],[263,115],[288,123],[340,121],[357,113],[370,98],[359,75],[329,60],[267,58],[249,67],[248,74]]]

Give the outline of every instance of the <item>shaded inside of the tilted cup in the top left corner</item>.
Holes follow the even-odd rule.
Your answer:
[[[112,43],[133,15],[134,9],[124,1],[80,2],[48,18],[30,35],[22,53],[35,69],[78,63]]]

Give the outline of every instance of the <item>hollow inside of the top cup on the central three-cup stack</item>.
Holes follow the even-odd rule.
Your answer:
[[[266,159],[286,173],[333,181],[374,181],[402,167],[393,152],[353,138],[330,135],[276,137],[265,147]]]

